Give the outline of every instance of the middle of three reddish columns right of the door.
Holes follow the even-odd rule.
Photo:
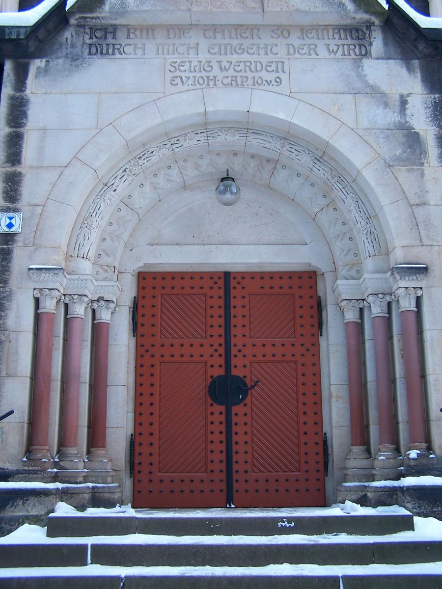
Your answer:
[[[369,294],[365,305],[371,307],[373,321],[376,386],[379,412],[380,445],[374,460],[374,478],[400,478],[398,468],[403,465],[403,458],[398,454],[394,435],[394,409],[390,373],[390,349],[388,340],[388,303],[393,300],[391,294]]]

